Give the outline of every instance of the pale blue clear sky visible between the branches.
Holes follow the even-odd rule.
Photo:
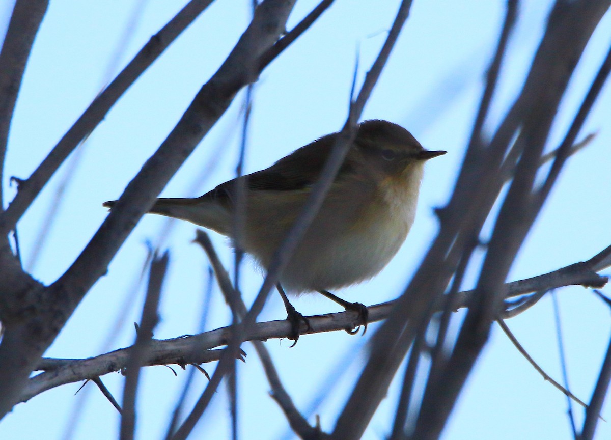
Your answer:
[[[299,0],[289,20],[294,26],[317,1]],[[503,65],[497,100],[488,127],[494,127],[519,91],[542,35],[550,1],[521,5],[510,51]],[[185,4],[168,0],[54,0],[37,35],[26,70],[10,133],[5,163],[6,205],[13,197],[12,175],[25,178],[89,105],[98,91]],[[321,19],[267,68],[254,89],[254,106],[246,152],[246,172],[257,171],[324,134],[339,130],[346,119],[356,53],[359,81],[386,37],[399,1],[337,0]],[[60,197],[56,222],[32,273],[42,282],[62,274],[84,248],[107,215],[105,200],[120,196],[142,163],[174,127],[203,82],[225,59],[250,17],[249,1],[214,2],[109,112],[87,139],[73,179]],[[426,166],[419,213],[397,257],[375,279],[340,292],[350,301],[376,304],[395,298],[417,267],[436,233],[434,207],[443,205],[455,181],[481,95],[489,57],[496,46],[505,2],[415,0],[411,15],[390,57],[362,119],[387,119],[408,128],[422,145],[448,154]],[[12,10],[0,4],[0,35]],[[136,20],[131,18],[137,16]],[[129,32],[126,29],[130,30]],[[603,18],[577,67],[563,100],[548,149],[557,146],[576,112],[611,41],[611,16]],[[106,73],[109,71],[110,73]],[[163,196],[199,196],[231,178],[240,145],[240,94],[209,136],[199,145]],[[611,87],[602,91],[580,134],[598,132],[595,141],[571,158],[557,187],[535,223],[514,263],[510,280],[522,279],[586,260],[611,244]],[[20,222],[21,253],[34,254],[38,231],[49,216],[54,194],[70,167],[64,166]],[[109,273],[86,296],[64,331],[46,353],[51,357],[83,358],[126,347],[139,320],[142,286],[138,282],[147,243],[158,243],[166,220],[146,216],[115,257]],[[207,260],[191,243],[195,227],[175,222],[163,233],[170,250],[170,271],[160,304],[161,323],[155,337],[166,339],[198,331]],[[213,236],[227,267],[232,252],[227,241]],[[607,273],[610,271],[607,270]],[[470,271],[466,288],[474,281]],[[252,263],[243,268],[244,298],[250,301],[262,278]],[[134,287],[136,286],[136,287]],[[611,290],[604,292],[611,295]],[[611,312],[591,292],[573,287],[558,290],[571,391],[588,400],[610,337]],[[260,320],[285,317],[272,295]],[[339,310],[318,296],[293,301],[304,314]],[[229,323],[230,315],[215,288],[206,329]],[[116,326],[115,322],[119,322]],[[556,380],[562,378],[554,308],[547,296],[533,309],[508,321],[529,353]],[[296,405],[307,411],[324,398],[314,413],[329,430],[359,372],[359,352],[367,337],[335,332],[304,336],[294,348],[288,340],[266,345]],[[109,335],[112,336],[111,341]],[[286,422],[268,395],[268,384],[254,349],[240,365],[241,438],[278,439],[287,435]],[[354,362],[352,362],[354,361]],[[330,375],[348,365],[340,379]],[[214,365],[204,365],[212,372]],[[165,435],[167,423],[187,374],[174,367],[144,370],[139,394],[137,438]],[[122,376],[103,377],[120,401]],[[190,401],[199,397],[206,379],[197,374]],[[332,384],[332,386],[331,386]],[[119,417],[106,399],[87,384],[70,384],[45,392],[15,407],[0,423],[2,439],[62,439],[74,408],[82,409],[71,438],[117,437]],[[382,403],[365,434],[389,434],[397,386]],[[366,398],[366,397],[364,397]],[[224,387],[214,409],[200,420],[192,438],[229,437]],[[609,405],[602,416],[611,420]],[[570,439],[565,396],[543,380],[521,354],[494,328],[466,389],[444,432],[446,439]],[[583,411],[574,407],[578,426]],[[313,416],[310,416],[313,421]],[[290,438],[290,435],[286,438]],[[611,438],[609,422],[601,422],[597,439]]]

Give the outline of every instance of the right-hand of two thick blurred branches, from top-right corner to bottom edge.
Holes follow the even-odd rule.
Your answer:
[[[503,283],[541,208],[541,204],[532,203],[532,195],[558,105],[573,74],[575,60],[583,53],[608,8],[609,1],[557,2],[549,16],[546,32],[518,98],[518,101],[536,100],[536,105],[524,108],[519,119],[521,131],[513,148],[519,153],[516,172],[496,218],[474,301],[469,304],[445,373],[439,380],[427,384],[414,431],[417,438],[439,437],[488,340],[491,323],[502,307]],[[567,29],[573,31],[570,36]]]

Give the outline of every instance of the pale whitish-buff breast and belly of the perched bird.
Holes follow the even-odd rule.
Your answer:
[[[421,176],[327,198],[284,271],[284,287],[334,290],[378,274],[412,226]]]

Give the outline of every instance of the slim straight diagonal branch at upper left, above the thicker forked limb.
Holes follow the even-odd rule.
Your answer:
[[[93,100],[32,175],[27,180],[21,181],[15,199],[12,200],[4,215],[0,215],[0,235],[5,235],[15,227],[16,222],[70,153],[97,127],[98,123],[104,119],[108,111],[131,84],[153,64],[157,57],[211,2],[212,0],[191,0],[186,4],[166,26],[148,40],[148,43],[142,47],[134,59],[117,75],[117,78]],[[20,1],[18,3],[26,2]],[[27,12],[31,13],[30,5],[27,6]],[[19,29],[19,32],[23,32],[23,29]]]

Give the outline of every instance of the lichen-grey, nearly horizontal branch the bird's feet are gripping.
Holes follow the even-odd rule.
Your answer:
[[[213,265],[215,260],[218,259],[214,259],[214,257],[211,259]],[[588,262],[592,260],[590,259]],[[503,287],[503,290],[506,292],[506,298],[568,285],[586,285],[588,287],[603,287],[606,285],[608,278],[592,274],[590,268],[588,268],[588,262],[575,263],[547,274],[507,283]],[[218,264],[220,265],[220,262]],[[217,266],[215,271],[220,268],[222,266]],[[220,276],[218,279],[221,285],[229,285],[232,288],[230,282],[226,284],[229,280],[223,281],[225,279],[224,276]],[[468,290],[458,293],[456,298],[457,308],[466,307],[473,292]],[[368,307],[369,321],[376,322],[386,319],[394,304],[395,301],[389,301]],[[441,302],[437,310],[441,311],[443,309],[444,303]],[[357,312],[354,311],[315,315],[308,317],[310,328],[304,327],[301,330],[303,334],[344,331],[347,326],[352,325],[356,318]],[[214,350],[214,348],[227,344],[231,331],[231,327],[224,327],[186,338],[153,339],[150,351],[142,359],[142,365],[176,364],[184,367],[189,364],[199,365],[205,362],[218,361],[221,358],[222,350]],[[288,338],[291,336],[292,331],[293,329],[287,320],[255,323],[247,340],[265,341],[268,339]],[[42,359],[38,362],[35,370],[44,372],[29,380],[21,394],[20,402],[26,402],[35,395],[60,385],[120,371],[126,367],[129,353],[130,347],[111,351],[111,353],[101,354],[89,359]],[[274,387],[273,390],[274,393],[277,392]]]

